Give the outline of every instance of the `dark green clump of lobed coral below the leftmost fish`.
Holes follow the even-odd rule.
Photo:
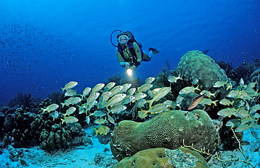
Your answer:
[[[46,98],[39,105],[44,108],[52,103],[51,99]],[[60,115],[58,116],[60,118]],[[67,123],[65,126],[60,125],[60,119],[54,119],[51,112],[42,113],[39,110],[38,115],[34,117],[31,130],[32,135],[39,142],[43,150],[48,152],[60,148],[70,148],[73,146],[73,138],[84,136],[82,126],[79,123]]]

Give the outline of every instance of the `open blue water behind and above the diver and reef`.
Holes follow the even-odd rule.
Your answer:
[[[174,69],[191,50],[209,49],[234,67],[253,63],[260,58],[259,8],[259,0],[1,0],[0,105],[18,92],[46,98],[70,81],[81,92],[125,75],[110,43],[113,30],[130,30],[145,51],[160,51],[136,69],[141,79],[167,60]]]

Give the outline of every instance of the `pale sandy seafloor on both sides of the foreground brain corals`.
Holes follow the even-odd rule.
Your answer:
[[[86,136],[93,135],[93,129],[84,129],[86,131]],[[256,130],[260,135],[260,130]],[[249,141],[249,146],[242,146],[246,156],[249,156],[248,161],[251,162],[256,168],[260,167],[260,139],[256,139],[252,136],[250,131],[244,131],[244,140]],[[0,155],[0,168],[2,167],[79,167],[79,168],[103,168],[112,167],[117,163],[115,157],[113,157],[110,151],[110,145],[104,145],[99,143],[96,136],[91,136],[91,141],[93,145],[88,146],[78,146],[74,150],[57,153],[47,153],[41,150],[39,146],[34,148],[22,148],[23,156],[20,157],[25,160],[27,165],[22,165],[20,161],[12,162],[9,159],[10,151],[14,150],[11,146],[8,149],[4,149],[4,153]],[[250,151],[251,150],[251,151]],[[257,150],[257,151],[255,151]],[[223,156],[223,160],[230,159],[240,159],[244,160],[244,157],[238,150],[225,151],[220,154]],[[98,156],[98,157],[96,157]],[[95,160],[96,157],[96,160]],[[219,168],[219,167],[249,167],[243,162],[220,162],[218,160],[209,160],[209,167]]]

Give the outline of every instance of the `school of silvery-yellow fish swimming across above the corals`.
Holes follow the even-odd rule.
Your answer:
[[[211,93],[210,91],[199,89],[198,79],[194,79],[192,84],[193,86],[187,86],[181,91],[179,91],[179,96],[176,98],[176,101],[164,101],[164,103],[157,103],[161,98],[164,98],[170,91],[171,87],[162,87],[152,89],[152,82],[154,82],[155,77],[148,77],[145,79],[145,84],[136,88],[131,88],[131,84],[123,84],[122,86],[115,86],[115,82],[110,82],[108,84],[96,84],[93,88],[86,87],[82,94],[77,93],[74,86],[77,86],[77,82],[69,82],[65,84],[62,91],[65,96],[69,96],[64,103],[61,103],[62,108],[65,106],[70,106],[66,110],[62,120],[63,122],[72,123],[77,122],[77,117],[73,117],[73,113],[78,111],[79,114],[86,113],[86,122],[90,123],[90,116],[95,116],[96,120],[94,123],[100,124],[98,128],[93,127],[96,131],[96,135],[99,134],[108,134],[110,131],[109,127],[105,126],[105,123],[111,122],[115,124],[115,119],[111,114],[119,113],[126,110],[126,105],[129,103],[136,103],[138,108],[142,108],[146,103],[149,104],[148,110],[138,111],[138,117],[145,118],[148,115],[158,114],[164,112],[169,108],[178,107],[181,110],[181,103],[184,99],[184,96],[188,93],[195,91],[200,91],[200,94],[195,96],[190,101],[190,105],[186,110],[192,110],[197,105],[217,105],[218,102],[221,105],[224,105],[226,108],[219,110],[218,115],[221,117],[230,117],[235,115],[238,119],[231,119],[227,126],[236,127],[235,131],[244,131],[249,128],[260,129],[257,121],[259,119],[259,113],[256,111],[260,109],[259,104],[254,104],[256,98],[259,97],[258,91],[254,90],[256,82],[245,85],[242,80],[240,80],[240,87],[235,90],[232,89],[232,84],[228,81],[223,82],[219,81],[214,84],[213,87],[220,88],[225,87],[226,90],[230,90],[226,98],[222,100],[212,101],[211,97],[216,98],[216,93]],[[181,75],[178,77],[169,76],[168,81],[170,83],[176,83],[177,80],[182,80]],[[197,85],[197,86],[195,86]],[[145,97],[150,96],[150,100],[145,100]],[[79,102],[86,101],[82,105],[77,105]],[[91,112],[91,108],[96,106],[98,110]],[[52,104],[48,105],[46,108],[42,108],[43,112],[53,112],[53,120],[58,118],[58,114],[55,111],[59,105]],[[185,110],[185,109],[184,109]]]

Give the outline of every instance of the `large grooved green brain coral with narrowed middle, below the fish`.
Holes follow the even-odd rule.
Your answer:
[[[219,148],[219,133],[203,110],[186,112],[168,110],[146,122],[124,120],[112,134],[110,148],[117,160],[148,148],[176,149],[183,145],[206,148],[214,153]]]

